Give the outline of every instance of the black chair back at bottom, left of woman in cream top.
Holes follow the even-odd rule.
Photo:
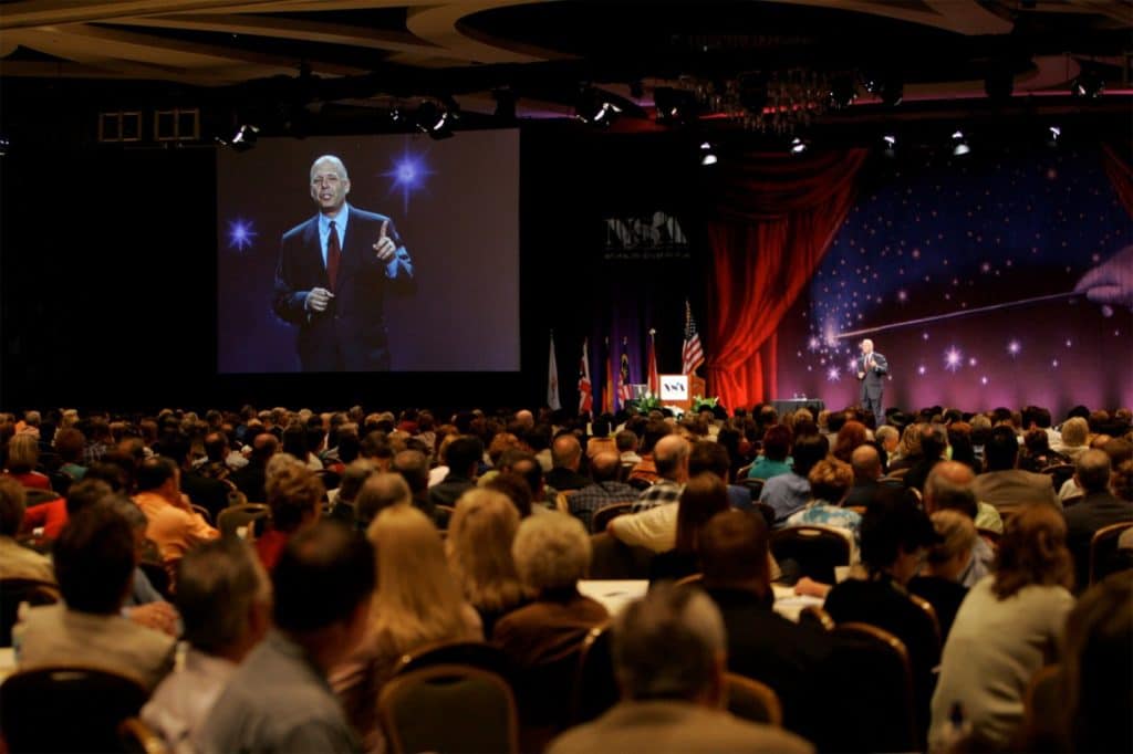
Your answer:
[[[904,642],[864,623],[838,624],[834,649],[819,667],[818,751],[912,752],[918,742],[912,671]]]

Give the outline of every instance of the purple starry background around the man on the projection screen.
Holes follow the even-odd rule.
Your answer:
[[[271,310],[280,238],[312,217],[308,171],[339,155],[348,202],[393,219],[417,292],[385,302],[397,371],[519,370],[519,131],[262,139],[218,152],[218,369],[297,371]]]

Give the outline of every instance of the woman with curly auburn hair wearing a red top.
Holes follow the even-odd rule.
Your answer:
[[[264,491],[272,509],[272,522],[267,531],[256,539],[255,547],[259,562],[270,573],[287,541],[318,522],[325,490],[322,480],[306,464],[288,459],[267,477]]]

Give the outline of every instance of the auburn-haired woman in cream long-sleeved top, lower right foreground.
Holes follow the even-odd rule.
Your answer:
[[[1074,605],[1066,524],[1048,505],[1008,519],[995,575],[972,586],[948,634],[932,695],[930,748],[949,735],[953,708],[971,727],[965,751],[1006,746],[1023,719],[1034,672],[1058,660],[1058,641]]]

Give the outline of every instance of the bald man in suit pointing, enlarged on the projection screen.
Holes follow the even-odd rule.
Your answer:
[[[385,215],[347,204],[350,177],[334,155],[310,166],[318,213],[283,233],[273,309],[297,325],[304,371],[385,371],[383,301],[412,284],[414,265]]]

